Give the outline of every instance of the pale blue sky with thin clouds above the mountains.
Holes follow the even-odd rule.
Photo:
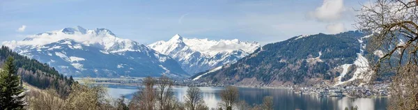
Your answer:
[[[300,35],[355,30],[368,0],[1,0],[0,42],[65,27],[109,29],[150,44],[185,38],[239,39],[265,45]]]

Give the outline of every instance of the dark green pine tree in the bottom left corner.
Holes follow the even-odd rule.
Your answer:
[[[20,86],[20,77],[13,63],[13,58],[8,57],[0,72],[0,109],[23,109],[24,92]]]

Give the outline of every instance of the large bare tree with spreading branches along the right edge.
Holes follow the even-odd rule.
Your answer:
[[[388,108],[418,109],[418,0],[376,0],[358,11],[356,26],[373,31],[367,48],[379,57],[371,78],[395,73]]]

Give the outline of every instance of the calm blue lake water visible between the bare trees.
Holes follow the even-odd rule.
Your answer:
[[[134,93],[138,91],[137,86],[107,85],[111,97],[125,95],[132,99]],[[217,107],[219,102],[219,92],[222,87],[200,87],[203,99],[210,108]],[[178,100],[184,101],[187,87],[176,86],[173,88]],[[271,95],[274,97],[275,109],[344,109],[345,107],[356,106],[359,109],[386,109],[387,98],[350,98],[350,97],[317,97],[315,95],[299,95],[288,89],[264,89],[264,88],[239,88],[240,100],[245,100],[248,104],[261,104],[263,97]]]

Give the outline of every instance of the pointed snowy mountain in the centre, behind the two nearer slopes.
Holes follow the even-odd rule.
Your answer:
[[[208,40],[183,38],[176,34],[168,41],[157,41],[148,45],[157,52],[171,56],[189,74],[203,72],[227,63],[234,63],[254,52],[258,42],[240,40]]]

